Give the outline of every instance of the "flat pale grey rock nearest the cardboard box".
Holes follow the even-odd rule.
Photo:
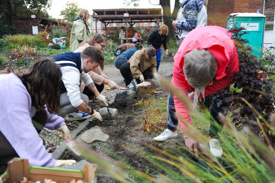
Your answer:
[[[90,130],[85,131],[81,135],[80,139],[87,143],[92,143],[95,140],[105,142],[107,141],[107,139],[109,139],[109,135],[103,133],[100,127],[95,126],[95,127],[92,127]]]

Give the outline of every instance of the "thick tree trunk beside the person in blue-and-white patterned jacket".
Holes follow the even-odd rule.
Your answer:
[[[172,22],[170,21],[170,19],[172,19],[170,0],[159,0],[159,5],[161,5],[163,10],[163,22],[165,25],[168,26],[168,29],[169,29],[168,37],[167,37],[167,41],[169,41],[169,39],[173,38],[175,35],[174,27],[172,25]]]

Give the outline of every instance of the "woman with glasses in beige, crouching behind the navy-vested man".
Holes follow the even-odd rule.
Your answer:
[[[86,47],[88,46],[95,46],[99,50],[104,51],[107,44],[107,38],[106,33],[97,33],[94,34],[93,37],[89,41],[82,42],[78,49],[76,49],[74,52],[82,52]],[[103,72],[104,69],[104,63],[99,65],[95,70],[91,70],[88,72],[90,77],[92,78],[95,86],[97,87],[97,90],[101,92],[104,89],[104,84],[107,84],[111,89],[116,89],[117,84],[114,81],[111,81],[108,79],[108,77]],[[84,84],[84,82],[81,83],[80,86],[81,93],[87,95],[89,98],[94,96],[94,93],[89,90]]]

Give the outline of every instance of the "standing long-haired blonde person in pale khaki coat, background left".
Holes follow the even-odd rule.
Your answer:
[[[70,51],[75,51],[81,42],[90,39],[90,31],[86,23],[89,16],[88,10],[81,9],[75,17],[71,31]]]

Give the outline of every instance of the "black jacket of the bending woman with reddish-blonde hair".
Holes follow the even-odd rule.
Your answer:
[[[167,49],[167,44],[166,44],[167,36],[166,35],[159,35],[159,30],[158,28],[153,30],[150,34],[150,36],[147,39],[147,44],[152,46],[155,49],[159,49],[161,47],[161,44],[163,44],[164,50]]]

